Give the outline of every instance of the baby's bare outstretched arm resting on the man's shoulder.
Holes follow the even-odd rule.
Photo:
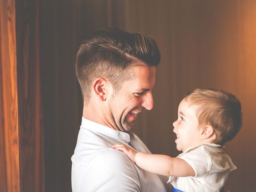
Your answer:
[[[193,168],[183,159],[172,158],[167,155],[136,152],[123,144],[115,144],[112,148],[123,151],[132,162],[146,171],[165,176],[195,176]]]

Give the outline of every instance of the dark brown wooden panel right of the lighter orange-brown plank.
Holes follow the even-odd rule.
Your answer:
[[[44,192],[38,0],[16,1],[20,190]]]

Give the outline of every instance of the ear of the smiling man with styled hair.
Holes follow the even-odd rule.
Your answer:
[[[108,80],[104,78],[96,78],[92,82],[92,88],[94,94],[102,101],[106,101],[107,98],[107,87],[109,86]]]

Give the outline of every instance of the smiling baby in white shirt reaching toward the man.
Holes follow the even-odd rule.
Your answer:
[[[136,152],[123,144],[122,150],[140,168],[169,176],[173,192],[218,192],[236,166],[222,151],[242,125],[241,104],[233,95],[217,89],[195,89],[180,102],[173,123],[176,158]]]

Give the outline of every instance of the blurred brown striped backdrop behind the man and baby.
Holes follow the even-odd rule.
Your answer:
[[[35,39],[46,192],[71,191],[70,158],[82,118],[82,96],[75,75],[76,52],[88,34],[104,27],[152,36],[160,48],[161,62],[153,89],[154,108],[144,110],[134,128],[152,153],[179,154],[172,122],[177,118],[179,102],[191,89],[220,88],[238,97],[242,103],[243,126],[224,148],[237,170],[230,173],[225,189],[255,190],[255,0],[35,2],[32,10],[38,26]],[[24,3],[24,17],[30,7]],[[18,9],[16,4],[16,17]]]

